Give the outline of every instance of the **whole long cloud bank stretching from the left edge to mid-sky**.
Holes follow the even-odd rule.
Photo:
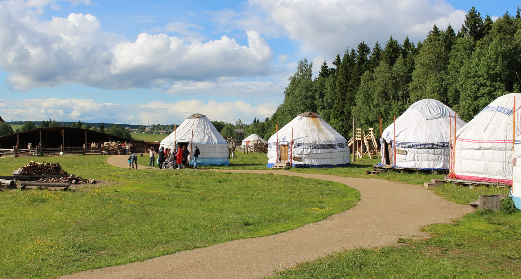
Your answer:
[[[70,14],[45,21],[28,5],[0,2],[0,67],[10,72],[7,81],[14,90],[71,83],[128,89],[270,73],[271,48],[255,31],[246,32],[247,46],[227,36],[187,43],[176,36],[146,33],[127,42],[102,31],[93,15]],[[178,32],[184,28],[189,35],[195,27],[167,28]]]

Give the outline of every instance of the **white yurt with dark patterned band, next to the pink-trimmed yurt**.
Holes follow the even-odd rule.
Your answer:
[[[439,100],[423,99],[412,104],[383,130],[382,161],[377,165],[449,169],[449,138],[454,135],[454,119],[456,130],[465,125],[465,121]]]

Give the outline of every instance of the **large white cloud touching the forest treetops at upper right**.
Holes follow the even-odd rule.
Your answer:
[[[372,47],[376,41],[384,45],[390,36],[401,41],[408,35],[418,42],[435,23],[440,29],[449,23],[459,28],[466,14],[445,1],[428,0],[250,0],[249,4],[236,18],[257,19],[264,12],[264,24],[281,26],[290,39],[302,43],[303,52],[330,58],[362,41]]]

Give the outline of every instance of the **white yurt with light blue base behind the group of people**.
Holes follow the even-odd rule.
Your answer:
[[[161,145],[175,150],[175,147],[187,146],[190,151],[189,160],[194,164],[192,154],[195,146],[199,147],[198,166],[228,166],[228,142],[215,129],[214,124],[205,115],[194,113],[168,135]]]

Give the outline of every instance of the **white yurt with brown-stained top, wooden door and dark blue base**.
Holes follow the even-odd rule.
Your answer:
[[[313,112],[304,112],[268,140],[268,164],[291,163],[293,167],[348,167],[348,141]]]

